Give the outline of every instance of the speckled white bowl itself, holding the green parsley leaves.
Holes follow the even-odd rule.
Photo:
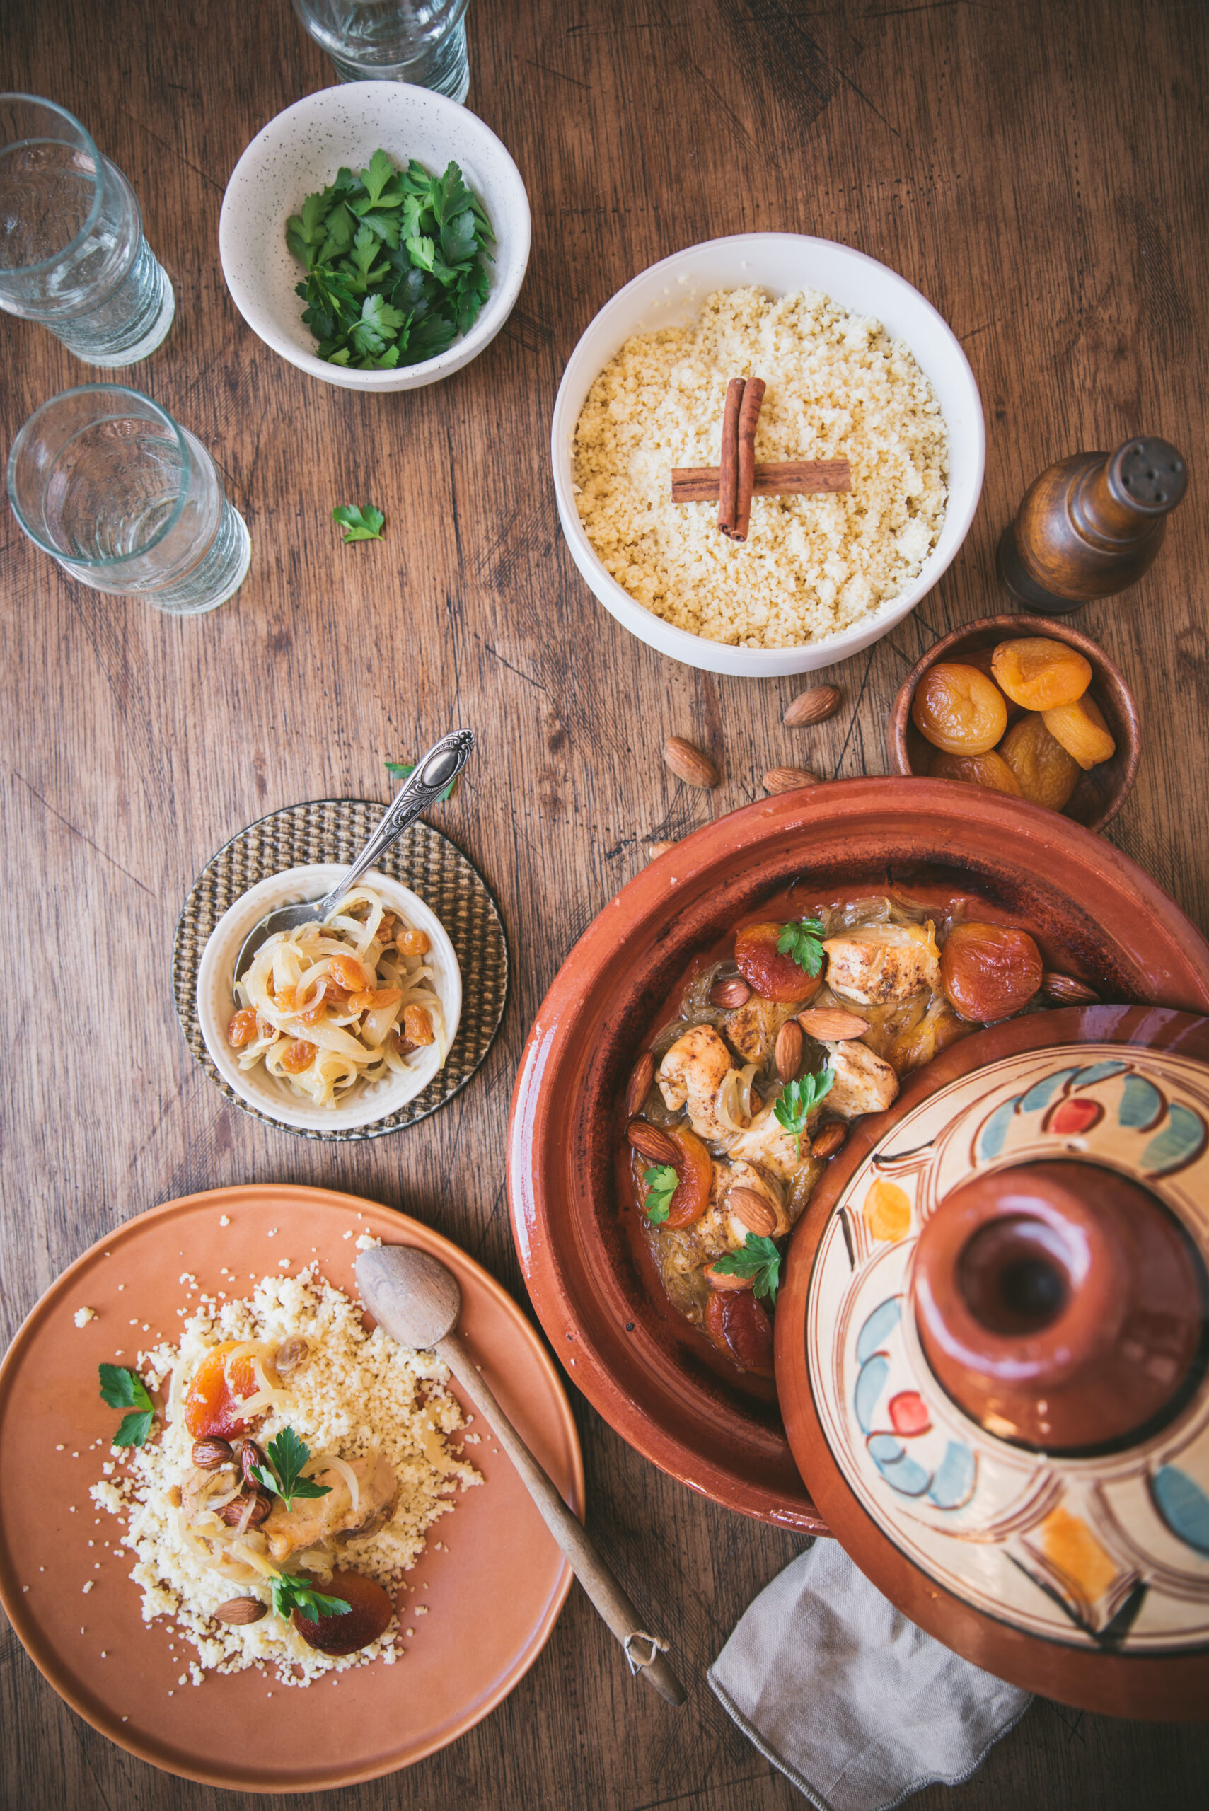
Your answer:
[[[364,170],[378,145],[398,163],[416,158],[440,174],[452,158],[496,234],[496,263],[481,313],[436,359],[395,371],[349,371],[315,353],[293,293],[304,275],[286,244],[286,221],[326,188],[340,165]],[[472,112],[405,81],[347,81],[286,107],[257,132],[232,170],[219,217],[219,257],[235,308],[266,346],[340,389],[420,389],[476,359],[512,313],[528,264],[528,196],[521,172]]]

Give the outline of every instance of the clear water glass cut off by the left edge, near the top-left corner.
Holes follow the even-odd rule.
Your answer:
[[[129,181],[36,94],[0,94],[0,308],[100,366],[145,359],[176,313]]]

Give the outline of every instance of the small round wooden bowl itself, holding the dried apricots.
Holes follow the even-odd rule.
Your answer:
[[[968,659],[970,654],[981,654],[1001,641],[1015,641],[1021,636],[1048,636],[1052,641],[1064,641],[1068,647],[1079,648],[1091,663],[1088,690],[1104,712],[1104,721],[1117,743],[1117,753],[1111,761],[1082,773],[1061,815],[1073,819],[1075,824],[1086,824],[1088,829],[1104,829],[1108,820],[1120,811],[1137,779],[1142,752],[1142,721],[1137,699],[1120,666],[1108,657],[1104,648],[1079,628],[1070,628],[1068,623],[1057,623],[1048,616],[983,616],[977,623],[966,623],[963,628],[941,636],[936,647],[928,648],[923,659],[910,668],[894,699],[894,710],[885,726],[890,768],[894,773],[927,775],[928,762],[938,753],[910,721],[910,701],[925,672],[938,661]],[[965,782],[948,781],[945,784]]]

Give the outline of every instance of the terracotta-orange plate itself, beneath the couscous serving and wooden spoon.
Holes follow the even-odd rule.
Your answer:
[[[186,1195],[121,1226],[47,1289],[0,1365],[0,1601],[60,1697],[168,1773],[233,1791],[308,1793],[420,1760],[507,1697],[570,1590],[570,1568],[476,1420],[483,1440],[467,1458],[485,1483],[434,1528],[431,1541],[449,1550],[429,1545],[409,1574],[416,1595],[404,1601],[424,1597],[429,1615],[404,1615],[414,1637],[402,1661],[308,1690],[255,1670],[208,1673],[199,1688],[177,1684],[185,1661],[168,1653],[168,1624],[141,1621],[141,1594],[127,1576],[132,1556],[112,1545],[119,1523],[89,1498],[114,1429],[96,1367],[118,1351],[130,1364],[139,1347],[176,1338],[183,1271],[217,1289],[228,1282],[221,1268],[248,1280],[281,1259],[297,1271],[317,1255],[324,1275],[355,1295],[362,1231],[449,1264],[462,1284],[462,1333],[483,1375],[583,1512],[579,1440],[556,1367],[500,1284],[438,1233],[357,1195],[277,1184]],[[76,1329],[72,1315],[85,1306],[96,1320]],[[98,1438],[105,1445],[89,1451]],[[177,1643],[177,1655],[188,1659],[192,1648]]]

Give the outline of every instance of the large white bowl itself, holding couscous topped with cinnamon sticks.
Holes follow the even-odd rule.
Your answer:
[[[572,442],[588,389],[632,333],[686,326],[713,290],[758,284],[769,295],[822,290],[856,315],[874,315],[903,339],[932,380],[948,429],[948,507],[941,538],[905,590],[852,628],[796,648],[733,648],[664,623],[644,610],[601,565],[576,509]],[[952,328],[918,290],[874,257],[831,239],[789,232],[737,234],[675,252],[652,264],[601,308],[570,355],[554,404],[550,435],[554,494],[572,560],[619,623],[686,666],[762,679],[804,674],[860,654],[894,628],[932,590],[961,547],[983,491],[986,433],[974,371]]]

